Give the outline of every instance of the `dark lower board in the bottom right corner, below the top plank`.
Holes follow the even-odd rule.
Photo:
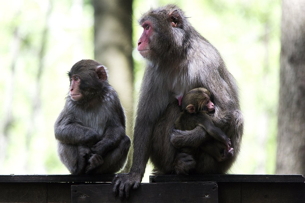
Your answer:
[[[241,202],[305,202],[305,184],[241,183]]]

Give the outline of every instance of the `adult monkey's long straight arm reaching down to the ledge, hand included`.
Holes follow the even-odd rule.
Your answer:
[[[118,174],[112,181],[113,192],[119,194],[121,199],[129,197],[131,188],[139,187],[144,175],[151,153],[150,141],[154,125],[169,102],[170,92],[162,82],[155,74],[154,67],[146,68],[134,127],[133,163],[129,173]]]

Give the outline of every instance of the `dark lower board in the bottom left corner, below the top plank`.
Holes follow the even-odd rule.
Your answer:
[[[0,202],[47,202],[47,183],[0,183]]]

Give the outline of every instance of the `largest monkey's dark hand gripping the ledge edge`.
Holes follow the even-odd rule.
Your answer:
[[[135,173],[117,174],[111,182],[111,184],[114,184],[112,191],[115,196],[119,194],[121,200],[124,199],[124,196],[128,199],[130,188],[133,188],[134,190],[137,189],[140,185],[141,179],[141,176]]]

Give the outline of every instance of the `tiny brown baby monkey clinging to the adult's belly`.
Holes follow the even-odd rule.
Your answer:
[[[176,169],[177,174],[191,173],[191,170],[196,165],[196,157],[200,156],[202,152],[208,153],[219,162],[233,156],[234,150],[230,148],[230,138],[214,125],[212,118],[208,115],[212,115],[215,112],[211,97],[211,92],[203,87],[192,89],[183,96],[182,112],[175,122],[175,128],[178,130],[193,130],[200,125],[211,137],[200,145],[199,149],[181,149],[181,153],[176,156],[176,163],[174,163],[174,165],[180,166],[180,169]],[[181,165],[180,157],[184,158],[189,155],[193,155],[193,157],[190,156],[190,161],[194,160],[193,165]]]

